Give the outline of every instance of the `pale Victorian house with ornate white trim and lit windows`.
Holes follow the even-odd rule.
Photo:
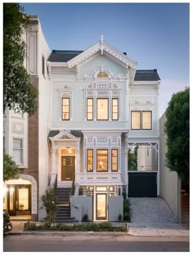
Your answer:
[[[117,221],[123,215],[122,195],[132,196],[128,150],[134,155],[134,148],[137,167],[130,178],[136,184],[146,173],[152,182],[153,175],[153,191],[148,192],[157,196],[157,71],[137,70],[136,61],[103,37],[83,52],[53,50],[47,66],[51,185],[71,188],[71,217]]]

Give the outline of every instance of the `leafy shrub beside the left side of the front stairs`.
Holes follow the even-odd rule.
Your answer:
[[[51,223],[56,219],[57,210],[57,200],[53,189],[47,189],[46,193],[42,195],[41,199],[43,200],[43,207],[41,209],[44,208],[47,211],[46,225],[50,227]]]

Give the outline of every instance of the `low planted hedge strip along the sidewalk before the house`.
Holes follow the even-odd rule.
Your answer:
[[[128,227],[114,227],[110,222],[89,222],[89,223],[74,223],[73,225],[67,225],[64,223],[52,223],[49,227],[43,223],[43,225],[36,225],[36,223],[29,223],[29,227],[26,228],[29,231],[128,231]]]

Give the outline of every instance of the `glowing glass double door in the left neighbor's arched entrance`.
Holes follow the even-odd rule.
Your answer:
[[[7,210],[10,215],[31,214],[31,186],[10,185],[7,187]]]

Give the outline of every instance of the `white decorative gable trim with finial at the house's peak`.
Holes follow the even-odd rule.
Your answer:
[[[110,46],[110,44],[103,40],[94,44],[92,47],[80,53],[78,56],[75,56],[73,59],[68,61],[67,64],[70,68],[76,65],[80,65],[83,61],[86,61],[89,57],[93,56],[97,52],[100,52],[101,55],[106,53],[110,56],[113,56],[115,60],[122,62],[124,65],[130,66],[132,69],[137,68],[137,61],[133,61],[131,58],[124,55],[122,52],[119,52],[116,48]]]

